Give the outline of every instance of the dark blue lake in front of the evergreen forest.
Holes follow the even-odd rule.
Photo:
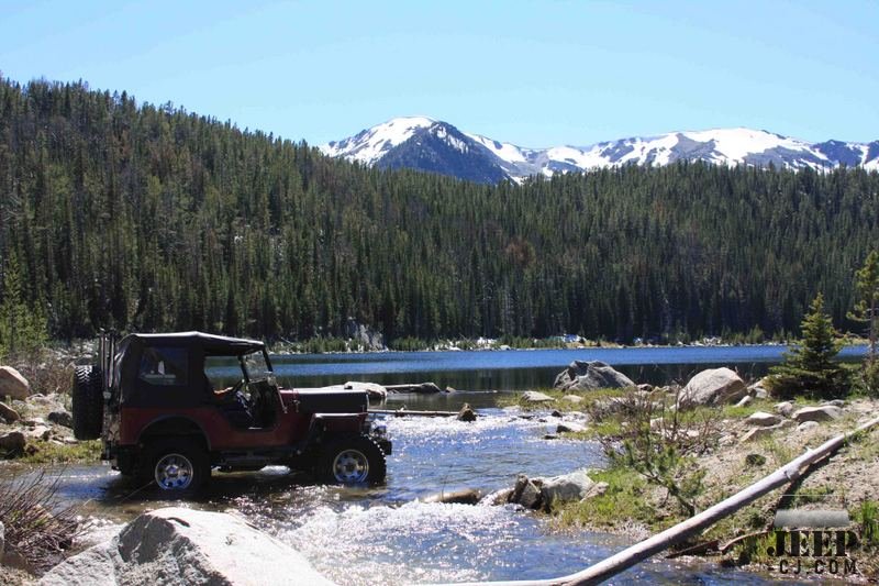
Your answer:
[[[728,366],[745,378],[764,376],[782,361],[788,346],[653,346],[585,350],[460,352],[371,352],[272,356],[288,387],[323,387],[348,380],[380,385],[433,382],[458,390],[527,390],[552,387],[575,360],[601,361],[636,383],[686,384],[704,368]],[[856,361],[866,346],[846,346],[841,357]]]

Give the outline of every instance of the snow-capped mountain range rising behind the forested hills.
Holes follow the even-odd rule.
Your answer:
[[[531,175],[590,170],[620,165],[668,165],[704,161],[717,165],[828,169],[839,165],[879,170],[879,141],[809,144],[764,130],[716,129],[631,137],[591,146],[522,148],[447,122],[396,118],[321,150],[382,168],[413,168],[461,179],[497,183]]]

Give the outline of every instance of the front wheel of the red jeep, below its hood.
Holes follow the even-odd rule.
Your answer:
[[[345,438],[326,447],[321,473],[334,484],[378,484],[385,480],[387,463],[369,438]]]

